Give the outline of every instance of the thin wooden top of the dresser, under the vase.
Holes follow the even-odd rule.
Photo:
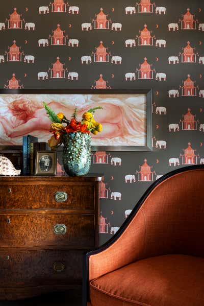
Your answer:
[[[55,181],[55,182],[93,182],[101,181],[103,174],[89,174],[86,176],[0,176],[1,181]]]

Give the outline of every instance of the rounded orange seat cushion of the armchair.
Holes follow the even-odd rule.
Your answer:
[[[204,305],[204,258],[170,254],[137,261],[92,280],[90,299],[93,306]]]

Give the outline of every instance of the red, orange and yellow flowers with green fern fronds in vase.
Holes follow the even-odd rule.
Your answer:
[[[83,113],[82,120],[78,121],[77,107],[74,109],[71,119],[68,120],[62,112],[56,114],[45,102],[43,102],[43,105],[52,122],[50,132],[53,133],[53,136],[48,140],[48,146],[52,149],[58,148],[63,143],[63,135],[67,133],[80,132],[90,134],[91,132],[96,135],[103,129],[102,125],[94,119],[95,111],[97,109],[103,109],[101,106],[89,109]]]

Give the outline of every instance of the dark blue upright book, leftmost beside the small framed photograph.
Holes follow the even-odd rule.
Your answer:
[[[22,137],[22,174],[30,175],[31,166],[31,142],[37,142],[38,138],[32,135],[26,135]]]

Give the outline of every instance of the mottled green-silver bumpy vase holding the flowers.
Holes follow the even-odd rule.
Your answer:
[[[73,132],[63,135],[62,161],[69,176],[86,175],[91,167],[91,136]]]

